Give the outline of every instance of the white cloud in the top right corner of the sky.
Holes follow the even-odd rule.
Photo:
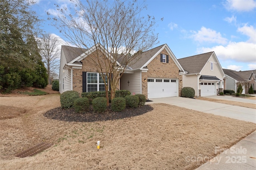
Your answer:
[[[255,0],[227,0],[224,5],[228,10],[248,12],[256,8]]]

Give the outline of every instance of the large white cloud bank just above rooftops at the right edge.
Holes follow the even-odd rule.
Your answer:
[[[199,48],[198,53],[214,51],[219,59],[236,62],[256,63],[256,45],[248,42],[230,42],[226,46],[218,45],[212,48]]]

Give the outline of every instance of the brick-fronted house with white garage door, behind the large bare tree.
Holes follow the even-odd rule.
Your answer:
[[[112,59],[112,55],[106,53],[104,47],[98,45],[97,49],[102,53],[102,57]],[[90,61],[95,53],[96,47],[80,49],[62,46],[60,93],[67,90],[79,93],[105,90],[104,84],[100,83],[102,81],[91,81],[101,78]],[[182,74],[185,74],[184,69],[168,45],[164,44],[141,53],[136,63],[127,66],[117,89],[129,90],[132,94],[144,94],[149,99],[180,96]]]

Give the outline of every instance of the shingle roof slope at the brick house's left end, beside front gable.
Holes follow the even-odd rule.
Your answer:
[[[70,47],[66,45],[62,45],[61,48],[65,54],[67,63],[69,63],[70,61],[72,61],[73,59],[75,59],[85,51],[87,51],[87,49],[80,49],[77,47]]]

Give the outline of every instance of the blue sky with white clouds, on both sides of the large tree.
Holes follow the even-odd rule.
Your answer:
[[[42,29],[63,38],[47,20],[46,11],[56,12],[54,4],[69,7],[70,1],[36,2],[33,9],[45,20]],[[166,43],[177,59],[214,51],[222,68],[256,69],[256,0],[147,0],[145,4],[142,15],[157,20],[155,47]]]

